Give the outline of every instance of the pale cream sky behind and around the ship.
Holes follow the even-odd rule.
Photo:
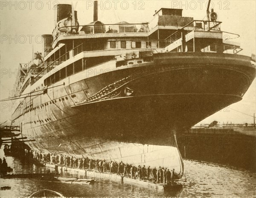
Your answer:
[[[19,63],[26,63],[34,51],[41,51],[41,34],[51,34],[54,27],[54,9],[56,3],[71,1],[1,1],[0,11],[0,98],[9,97],[9,91],[15,82],[15,71]],[[99,20],[103,23],[127,21],[129,23],[150,22],[155,10],[164,8],[182,8],[184,17],[203,20],[206,16],[207,0],[201,1],[99,1]],[[73,1],[78,11],[80,25],[93,21],[92,1]],[[256,54],[256,1],[230,0],[212,1],[211,7],[222,21],[221,29],[239,34],[234,41],[241,42],[242,55]],[[244,95],[241,102],[229,107],[229,111],[215,113],[201,123],[213,120],[219,122],[252,123],[256,111],[256,81]],[[1,103],[0,122],[10,118],[10,110]],[[241,113],[239,113],[241,112]],[[244,114],[243,114],[244,113]],[[245,115],[248,114],[248,115]]]

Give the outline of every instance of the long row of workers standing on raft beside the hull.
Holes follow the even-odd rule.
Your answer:
[[[74,156],[66,156],[62,154],[50,154],[35,150],[25,149],[25,156],[33,160],[48,162],[50,164],[62,165],[70,168],[78,168],[83,170],[95,170],[100,173],[117,173],[126,177],[153,181],[162,184],[174,184],[175,170],[169,170],[164,167],[151,169],[145,165],[135,167],[134,165],[124,164],[122,161],[116,163],[114,161],[107,162],[105,160],[93,160],[89,158],[75,158]]]

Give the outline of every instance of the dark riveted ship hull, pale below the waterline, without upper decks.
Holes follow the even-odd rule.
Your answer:
[[[116,68],[115,61],[108,64]],[[166,53],[152,62],[90,78],[85,74],[27,99],[44,103],[15,119],[25,123],[25,136],[36,139],[29,146],[93,160],[175,168],[181,177],[176,133],[240,101],[255,68],[249,57],[239,55]]]

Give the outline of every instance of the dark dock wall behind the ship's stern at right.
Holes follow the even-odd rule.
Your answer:
[[[191,129],[177,144],[183,158],[256,171],[256,130]]]

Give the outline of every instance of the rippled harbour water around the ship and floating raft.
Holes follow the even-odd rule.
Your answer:
[[[3,150],[1,150],[3,158]],[[13,157],[6,157],[14,173],[46,173],[53,169],[37,167]],[[12,187],[3,190],[0,197],[24,197],[40,189],[61,192],[66,197],[253,197],[255,196],[256,173],[198,161],[184,160],[185,173],[180,179],[183,189],[179,192],[157,192],[154,189],[122,184],[119,180],[100,180],[92,185],[62,184],[33,179],[1,179],[0,186]],[[61,172],[64,177],[83,177],[81,173]]]

